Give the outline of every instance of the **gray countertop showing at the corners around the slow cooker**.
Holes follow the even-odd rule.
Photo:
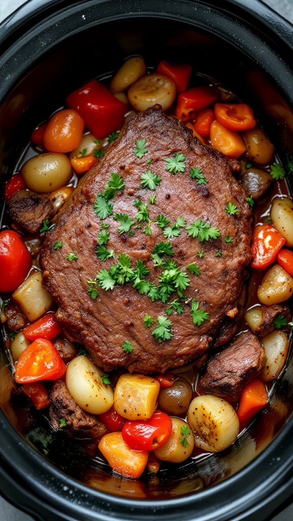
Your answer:
[[[0,4],[0,21],[4,20],[24,3],[23,0],[2,0]],[[264,0],[264,3],[293,23],[293,0]],[[1,521],[33,521],[32,517],[10,505],[2,497],[0,497],[0,513]],[[283,512],[275,516],[271,521],[290,521],[291,519],[293,519],[293,504],[285,508]]]

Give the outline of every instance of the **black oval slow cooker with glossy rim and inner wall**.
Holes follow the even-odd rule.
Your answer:
[[[1,183],[72,90],[142,54],[190,63],[250,103],[293,172],[293,31],[258,0],[31,0],[0,26]],[[0,491],[38,519],[265,521],[293,485],[293,361],[223,453],[131,480],[54,432],[0,354]]]

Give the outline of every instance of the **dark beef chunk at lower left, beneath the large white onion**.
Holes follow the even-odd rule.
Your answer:
[[[79,439],[100,440],[107,432],[99,416],[83,411],[72,398],[63,380],[56,380],[50,392],[50,418],[54,429],[60,428],[60,419],[66,420],[62,430]]]

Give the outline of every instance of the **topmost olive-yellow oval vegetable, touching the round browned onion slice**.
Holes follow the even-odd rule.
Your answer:
[[[144,59],[141,56],[128,58],[123,66],[120,67],[110,83],[110,90],[113,93],[125,91],[139,78],[146,74]]]

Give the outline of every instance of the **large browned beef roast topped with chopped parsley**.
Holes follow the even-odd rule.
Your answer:
[[[139,158],[133,150],[137,140],[143,139],[147,152]],[[171,173],[166,170],[165,159],[177,153],[186,156],[185,171]],[[192,179],[191,168],[201,169],[208,182]],[[161,178],[154,191],[141,186],[141,175],[149,169]],[[156,105],[128,121],[118,139],[109,145],[104,157],[67,200],[42,249],[44,286],[59,305],[56,316],[66,328],[68,338],[84,344],[98,366],[105,369],[122,366],[141,373],[181,366],[206,352],[227,317],[229,324],[237,320],[246,268],[251,260],[252,222],[247,193],[232,175],[233,170],[239,169],[237,160],[199,143],[180,121],[167,116]],[[93,205],[97,194],[104,192],[111,172],[123,177],[125,188],[110,201],[113,216],[101,220]],[[156,198],[151,204],[153,195]],[[138,207],[133,204],[136,200],[149,205],[148,222],[137,221]],[[228,202],[237,206],[239,212],[229,215],[225,210]],[[114,220],[116,213],[128,214],[135,221],[130,228],[133,234],[119,233],[120,222]],[[174,311],[169,316],[173,338],[161,342],[152,332],[158,316],[168,318],[166,308],[178,298],[177,292],[171,294],[167,303],[152,302],[131,283],[116,283],[113,290],[100,288],[99,296],[93,300],[87,282],[94,280],[99,270],[109,270],[117,263],[118,254],[124,253],[129,255],[131,269],[136,268],[137,261],[143,261],[150,270],[146,280],[158,286],[164,267],[154,267],[151,254],[158,243],[167,241],[163,229],[155,223],[159,214],[170,219],[170,224],[182,217],[186,226],[201,219],[221,232],[218,239],[200,242],[180,228],[180,235],[169,239],[174,255],[162,255],[162,261],[173,259],[179,270],[186,271],[190,286],[184,291],[184,312],[179,315]],[[151,235],[144,232],[149,223]],[[109,225],[106,247],[115,251],[115,258],[101,261],[95,250],[97,235],[104,224]],[[62,241],[63,247],[54,250],[56,241]],[[75,254],[76,260],[67,259],[70,253]],[[198,265],[199,275],[189,273],[186,267],[191,263]],[[209,319],[201,325],[193,324],[192,302],[193,308],[198,302],[198,308],[209,314]],[[144,325],[145,313],[154,318],[150,328]],[[229,340],[232,335],[230,327],[225,338]],[[126,341],[132,345],[131,353],[123,348]]]

